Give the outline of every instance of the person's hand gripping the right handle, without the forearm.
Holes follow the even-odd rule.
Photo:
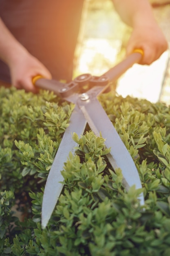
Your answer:
[[[150,65],[156,61],[163,52],[168,48],[168,43],[161,29],[157,24],[141,25],[133,29],[128,45],[126,47],[127,55],[131,54],[134,49],[142,49],[144,56],[139,64]]]

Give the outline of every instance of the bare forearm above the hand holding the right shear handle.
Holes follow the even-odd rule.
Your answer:
[[[121,19],[132,28],[156,22],[148,0],[113,0],[113,4]]]

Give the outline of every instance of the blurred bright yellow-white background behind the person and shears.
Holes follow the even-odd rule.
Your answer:
[[[150,0],[155,18],[170,45],[170,0]],[[74,59],[74,77],[100,76],[125,57],[131,28],[117,15],[111,0],[85,0]],[[151,65],[135,64],[116,83],[118,95],[170,105],[170,50]]]

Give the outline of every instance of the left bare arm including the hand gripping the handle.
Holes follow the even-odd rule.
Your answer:
[[[0,19],[0,58],[9,66],[12,85],[18,89],[37,92],[32,84],[32,78],[38,74],[51,79],[46,67],[15,39],[2,19]]]

